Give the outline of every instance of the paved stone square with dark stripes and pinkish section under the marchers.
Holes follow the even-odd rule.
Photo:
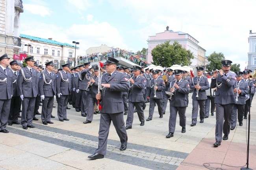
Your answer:
[[[91,124],[83,124],[86,118],[71,108],[67,111],[70,121],[60,122],[56,117],[52,119],[54,124],[46,126],[39,119],[33,121],[36,128],[28,130],[23,130],[21,125],[16,124],[7,126],[10,133],[0,133],[0,170],[239,170],[240,168],[231,166],[245,166],[248,129],[246,120],[243,126],[237,126],[230,132],[227,141],[214,148],[215,116],[205,119],[204,123],[189,126],[191,96],[189,99],[186,133],[181,133],[177,118],[174,137],[165,138],[168,134],[168,112],[160,119],[155,108],[152,121],[146,121],[145,126],[139,126],[135,113],[133,127],[127,130],[128,148],[122,152],[119,150],[121,143],[112,124],[104,159],[87,158],[98,147],[99,114],[94,115]],[[254,100],[252,108],[255,103]],[[144,112],[146,119],[148,107],[149,104]],[[54,108],[53,115],[56,116],[56,112],[57,107]],[[256,111],[251,109],[249,168],[254,170],[255,115]],[[37,117],[40,118],[40,115]],[[124,119],[126,120],[126,116]]]

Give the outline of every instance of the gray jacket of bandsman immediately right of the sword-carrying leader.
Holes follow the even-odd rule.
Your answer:
[[[147,80],[143,76],[138,76],[135,80],[135,77],[132,78],[134,80],[134,84],[131,84],[129,101],[130,102],[142,102],[145,101],[143,97],[144,88],[146,86]]]

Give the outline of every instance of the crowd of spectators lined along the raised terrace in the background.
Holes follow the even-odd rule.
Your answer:
[[[144,66],[147,67],[148,62],[145,60],[145,55],[137,55],[135,53],[131,53],[129,51],[125,51],[122,49],[112,49],[104,53],[93,53],[91,55],[85,55],[85,56],[80,56],[76,63],[77,64],[83,64],[85,62],[98,62],[102,60],[106,60],[106,57],[122,57],[125,58],[126,60],[129,60],[131,62],[134,62],[135,64],[138,64],[139,66]],[[143,60],[144,59],[144,60]]]

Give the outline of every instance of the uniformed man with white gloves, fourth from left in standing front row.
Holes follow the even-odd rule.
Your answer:
[[[41,119],[43,124],[53,124],[51,121],[54,95],[56,95],[56,74],[53,61],[45,64],[46,69],[39,77],[39,93],[43,102]]]

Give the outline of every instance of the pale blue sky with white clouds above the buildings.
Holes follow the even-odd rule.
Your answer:
[[[80,42],[89,47],[141,51],[148,36],[169,30],[188,33],[206,49],[247,66],[249,30],[256,32],[255,0],[23,0],[20,33]]]

